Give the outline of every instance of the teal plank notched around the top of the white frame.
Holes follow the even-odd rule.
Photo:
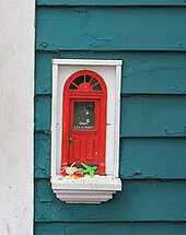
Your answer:
[[[121,94],[186,94],[185,52],[37,52],[36,94],[51,94],[53,58],[121,59]]]

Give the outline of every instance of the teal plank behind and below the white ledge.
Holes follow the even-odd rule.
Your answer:
[[[37,179],[35,221],[186,221],[185,183],[124,180],[123,191],[116,193],[108,202],[66,204],[56,198],[49,180]]]

